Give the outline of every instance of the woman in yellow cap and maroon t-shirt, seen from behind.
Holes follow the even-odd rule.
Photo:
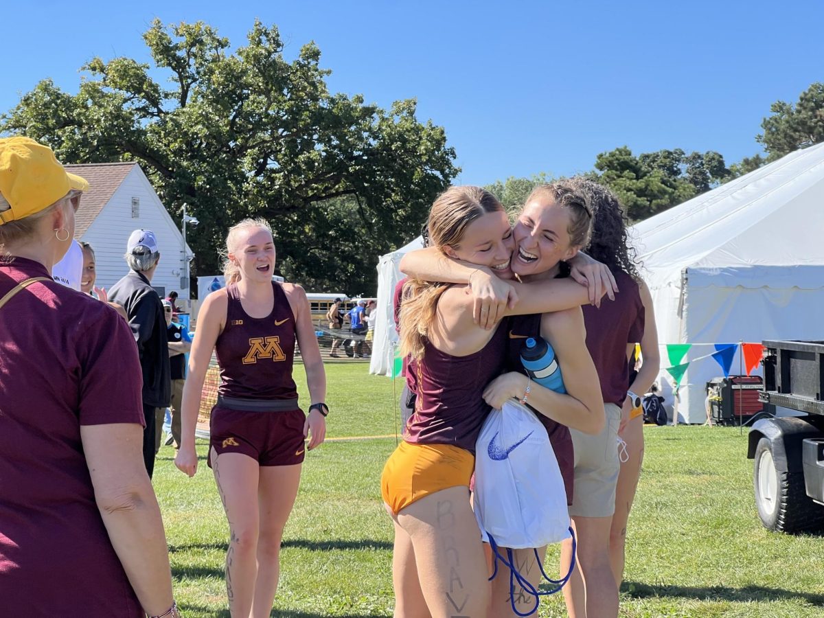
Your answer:
[[[134,339],[51,278],[87,186],[49,147],[0,139],[2,614],[176,616]]]

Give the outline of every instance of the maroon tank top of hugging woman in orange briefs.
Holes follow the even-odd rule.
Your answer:
[[[468,356],[452,356],[424,343],[423,358],[409,366],[416,374],[418,398],[406,424],[406,442],[452,444],[475,453],[475,442],[490,410],[481,394],[503,368],[507,330],[503,320],[489,342]]]

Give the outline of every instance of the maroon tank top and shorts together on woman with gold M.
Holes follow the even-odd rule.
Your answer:
[[[226,326],[215,343],[221,383],[210,418],[212,451],[240,453],[260,466],[303,461],[306,416],[292,377],[295,317],[286,293],[272,283],[269,316],[249,316],[236,284],[227,286]]]

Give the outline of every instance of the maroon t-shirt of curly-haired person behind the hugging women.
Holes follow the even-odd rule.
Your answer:
[[[587,349],[598,372],[604,401],[623,405],[630,377],[626,346],[644,337],[644,303],[637,281],[620,270],[613,275],[620,290],[616,299],[604,297],[600,309],[592,305],[582,309]]]

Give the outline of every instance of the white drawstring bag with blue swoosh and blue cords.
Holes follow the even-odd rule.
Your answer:
[[[564,479],[550,438],[535,413],[517,400],[507,401],[503,410],[492,410],[480,430],[475,444],[473,504],[483,540],[495,555],[490,579],[498,574],[499,560],[508,566],[513,611],[518,616],[531,615],[538,608],[539,597],[558,592],[564,586],[574,569],[574,559],[566,577],[550,579],[536,551],[541,574],[556,586],[554,590],[538,592],[517,572],[512,550],[564,541],[572,534],[572,528]],[[573,538],[573,548],[574,542]],[[501,555],[499,547],[508,548],[506,556]],[[515,581],[536,597],[532,611],[517,611]]]

